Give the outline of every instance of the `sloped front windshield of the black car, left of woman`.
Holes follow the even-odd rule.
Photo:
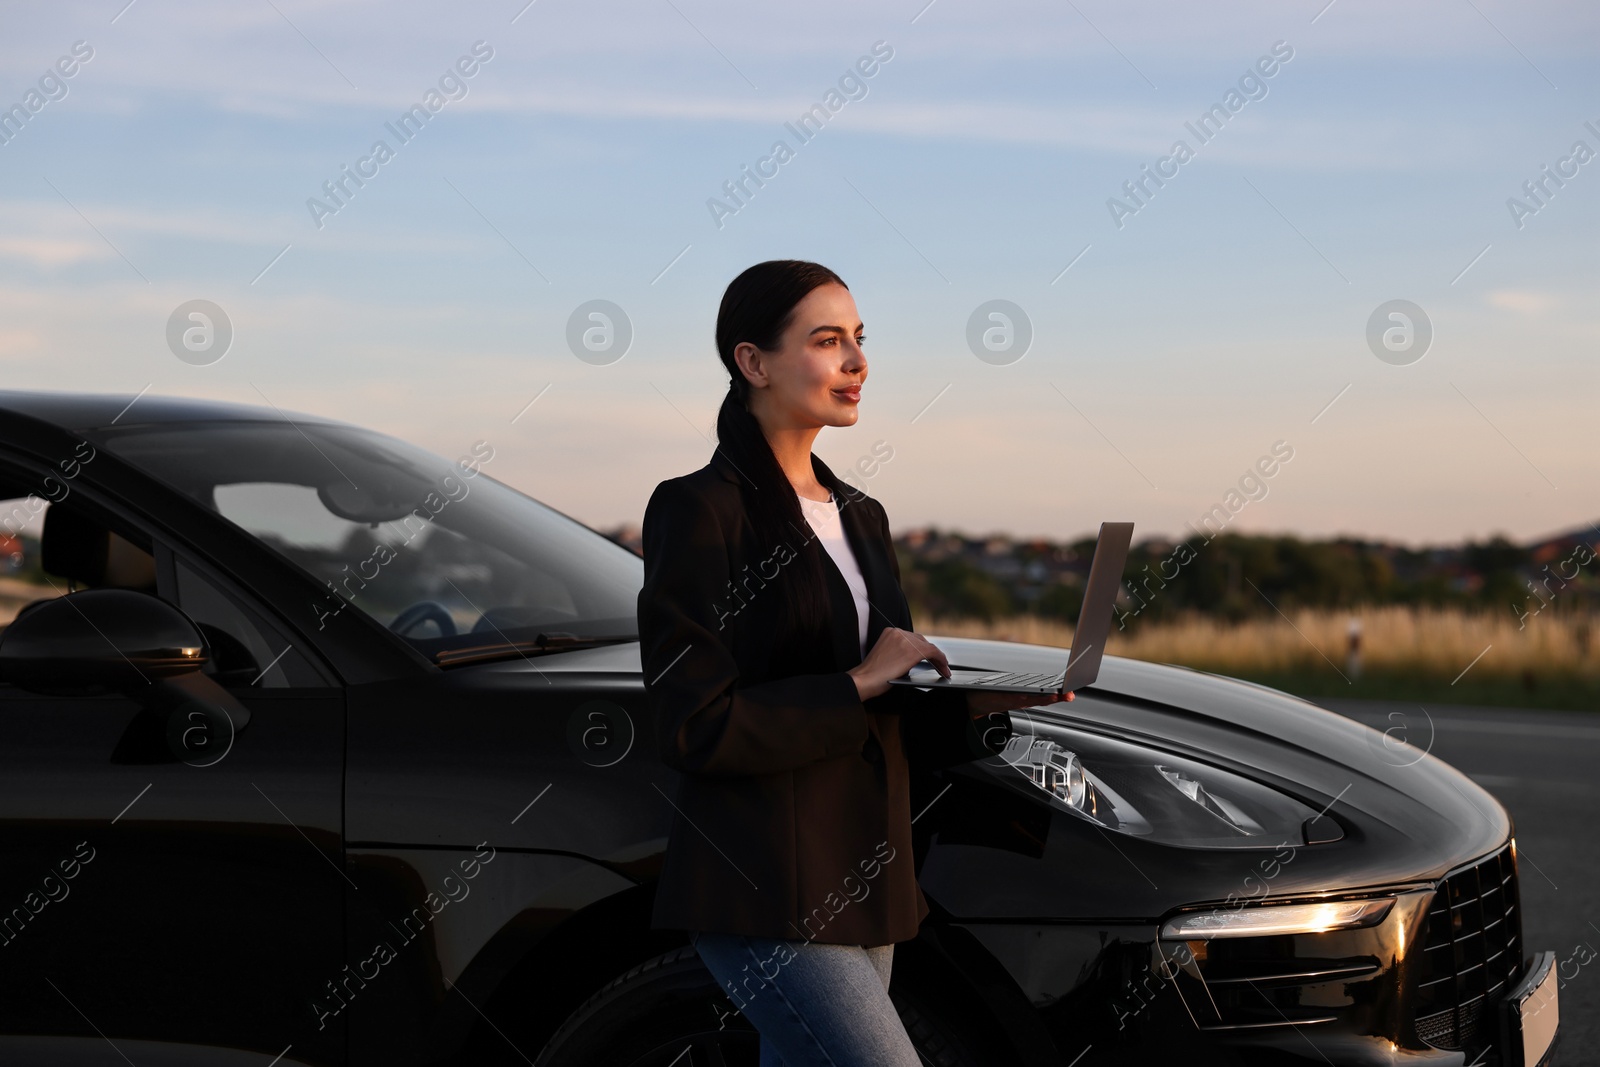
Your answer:
[[[363,611],[430,657],[539,633],[638,632],[643,561],[491,478],[483,467],[494,450],[483,442],[450,462],[315,422],[131,426],[96,437],[322,582],[326,595],[306,608],[318,629]]]

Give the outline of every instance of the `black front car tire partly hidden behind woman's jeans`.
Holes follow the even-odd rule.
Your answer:
[[[893,992],[925,1064],[989,1067],[915,993]],[[683,1056],[685,1048],[693,1051]],[[678,1059],[683,1056],[683,1059]],[[693,945],[646,960],[606,982],[550,1037],[534,1067],[757,1067],[760,1038]]]

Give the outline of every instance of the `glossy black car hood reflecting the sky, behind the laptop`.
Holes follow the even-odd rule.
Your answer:
[[[1056,672],[1066,649],[928,635],[952,667]],[[541,672],[638,677],[638,645],[578,649],[538,659]],[[472,670],[531,672],[522,661]],[[1274,894],[1426,881],[1502,846],[1510,816],[1470,777],[1427,753],[1424,709],[1387,731],[1267,686],[1171,664],[1106,656],[1099,678],[1070,702],[1027,712],[1067,729],[1110,733],[1200,758],[1328,809],[1347,837],[1306,846]],[[1070,816],[1061,816],[1070,817]],[[1192,853],[1192,872],[1210,865]],[[1222,865],[1232,870],[1237,862]],[[1230,875],[1235,881],[1237,877]],[[1203,881],[1203,878],[1200,878]],[[1152,912],[1163,910],[1149,901]]]

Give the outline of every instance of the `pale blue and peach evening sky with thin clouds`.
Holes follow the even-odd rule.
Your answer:
[[[0,387],[488,442],[608,528],[800,258],[867,333],[816,453],[888,453],[896,530],[1184,536],[1242,480],[1238,531],[1587,528],[1597,50],[1578,2],[6,3]]]

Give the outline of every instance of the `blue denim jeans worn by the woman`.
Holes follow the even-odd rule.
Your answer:
[[[890,1001],[894,945],[706,933],[691,941],[762,1035],[762,1067],[920,1067]]]

